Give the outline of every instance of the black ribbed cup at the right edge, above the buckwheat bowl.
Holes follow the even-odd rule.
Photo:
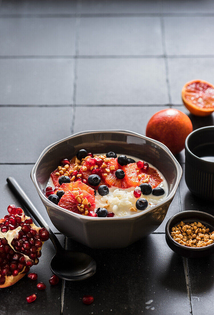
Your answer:
[[[214,144],[214,126],[196,129],[187,136],[185,181],[194,195],[206,200],[214,200],[214,162],[205,161],[193,153],[196,147],[205,144]]]

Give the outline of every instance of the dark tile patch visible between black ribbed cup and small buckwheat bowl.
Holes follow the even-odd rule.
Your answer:
[[[199,210],[208,212],[211,215],[214,215],[213,202],[206,201],[202,198],[198,198],[193,195],[185,183],[185,164],[182,164],[183,176],[180,181],[180,195],[181,198],[181,209],[185,210]]]

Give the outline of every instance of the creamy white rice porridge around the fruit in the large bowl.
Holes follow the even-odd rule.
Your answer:
[[[102,153],[104,154],[104,153]],[[97,154],[101,155],[101,154]],[[119,156],[120,154],[117,154]],[[129,158],[134,159],[136,162],[139,161],[139,158],[128,156]],[[148,163],[144,161],[145,163]],[[149,167],[152,167],[158,171],[156,167],[154,167],[151,163],[148,163]],[[140,198],[145,198],[148,201],[148,207],[145,209],[150,209],[153,206],[157,205],[158,203],[162,202],[168,195],[168,185],[163,177],[163,174],[159,172],[160,177],[163,179],[160,185],[158,187],[162,187],[165,190],[165,194],[162,196],[153,196],[152,193],[150,195],[141,195]],[[47,183],[47,186],[51,186],[53,189],[55,189],[55,185],[52,181],[52,178],[49,178],[49,181]],[[95,203],[96,203],[96,209],[97,208],[103,208],[105,207],[109,212],[114,212],[114,217],[124,217],[127,215],[134,215],[136,213],[142,212],[141,210],[137,211],[131,211],[130,209],[133,207],[136,209],[135,203],[138,198],[135,198],[133,195],[133,192],[135,189],[140,189],[139,187],[130,187],[126,189],[121,189],[118,187],[111,186],[109,188],[109,194],[106,196],[100,196],[98,192],[95,196]],[[145,211],[144,210],[144,211]]]

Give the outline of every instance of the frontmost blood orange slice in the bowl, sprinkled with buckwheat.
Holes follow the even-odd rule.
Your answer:
[[[94,211],[95,209],[95,198],[94,196],[90,195],[88,192],[84,190],[79,190],[79,198],[76,198],[78,195],[75,194],[77,191],[66,191],[62,198],[60,199],[58,206],[67,209],[69,211],[78,213],[78,214],[85,214],[85,211]],[[82,198],[81,198],[82,197]],[[84,206],[82,208],[81,206]]]

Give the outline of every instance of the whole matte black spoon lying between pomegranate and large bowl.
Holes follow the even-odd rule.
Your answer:
[[[54,244],[56,254],[51,260],[51,270],[59,278],[76,281],[93,276],[96,272],[96,262],[84,253],[62,248],[54,232],[50,229],[40,213],[36,210],[24,190],[13,177],[8,177],[7,182],[15,196],[24,204],[29,213],[36,219],[40,226],[45,227],[50,233],[51,242]]]

